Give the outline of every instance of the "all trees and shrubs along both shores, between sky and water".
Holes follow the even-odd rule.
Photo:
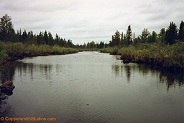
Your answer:
[[[76,53],[85,50],[100,50],[104,53],[121,55],[124,63],[146,63],[172,70],[184,70],[184,22],[179,28],[170,22],[167,29],[159,33],[144,28],[142,34],[135,36],[131,26],[126,33],[118,30],[109,43],[90,41],[84,44],[72,43],[56,34],[44,31],[34,34],[17,30],[15,32],[11,17],[0,18],[0,63],[39,55]]]

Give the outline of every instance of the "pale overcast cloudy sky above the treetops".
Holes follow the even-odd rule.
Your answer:
[[[12,17],[14,29],[50,31],[74,44],[108,42],[128,25],[159,32],[184,20],[184,0],[0,0],[0,17]]]

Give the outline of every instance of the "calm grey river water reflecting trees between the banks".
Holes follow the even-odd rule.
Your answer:
[[[98,52],[26,58],[0,67],[13,94],[1,116],[55,117],[57,123],[183,123],[184,73]]]

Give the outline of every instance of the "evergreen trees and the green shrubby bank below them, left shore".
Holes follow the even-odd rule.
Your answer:
[[[15,32],[11,17],[7,14],[0,18],[0,64],[25,57],[63,55],[76,53],[71,40],[55,37],[50,32],[34,34],[18,30]]]

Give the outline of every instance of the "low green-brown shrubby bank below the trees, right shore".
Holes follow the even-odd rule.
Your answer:
[[[184,70],[184,42],[173,45],[140,44],[122,48],[106,48],[101,52],[119,54],[124,63],[146,63],[168,69]]]

